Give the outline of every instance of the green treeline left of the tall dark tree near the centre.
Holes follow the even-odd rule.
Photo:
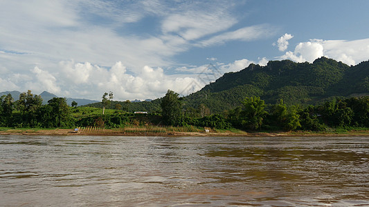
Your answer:
[[[104,97],[101,108],[109,105],[111,95]],[[104,99],[105,98],[105,99]],[[133,114],[123,110],[109,110],[105,115],[100,108],[71,107],[66,98],[54,97],[47,104],[42,104],[40,95],[33,95],[30,90],[22,92],[19,100],[12,95],[0,97],[0,126],[12,128],[73,128],[98,126],[119,128],[125,125],[160,124],[161,116]],[[109,103],[109,104],[108,104]],[[72,104],[77,105],[77,104]],[[114,112],[111,112],[114,111]]]

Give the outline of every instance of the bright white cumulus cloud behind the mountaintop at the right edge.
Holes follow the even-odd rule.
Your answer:
[[[298,43],[295,50],[287,51],[278,59],[297,62],[312,62],[319,57],[328,57],[349,65],[356,65],[369,59],[369,39],[354,41],[311,39]]]

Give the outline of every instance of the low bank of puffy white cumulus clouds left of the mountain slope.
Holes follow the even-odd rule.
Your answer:
[[[196,80],[196,77],[165,75],[163,68],[159,67],[143,66],[140,70],[132,72],[127,70],[121,61],[110,68],[74,61],[62,61],[59,67],[62,72],[56,75],[62,80],[60,86],[66,90],[62,93],[83,95],[89,99],[98,99],[110,90],[114,92],[117,100],[155,99],[165,95],[168,89],[182,92]],[[79,74],[82,75],[81,78],[78,78]],[[199,90],[199,87],[193,90]],[[193,90],[186,92],[194,92]]]

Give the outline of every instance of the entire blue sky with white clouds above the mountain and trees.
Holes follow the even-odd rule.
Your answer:
[[[269,60],[369,59],[369,1],[0,1],[0,91],[154,99]],[[210,65],[211,64],[211,65]]]

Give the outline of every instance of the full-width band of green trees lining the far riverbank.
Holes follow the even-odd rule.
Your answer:
[[[15,128],[73,128],[99,126],[120,128],[126,125],[200,126],[219,129],[312,130],[330,128],[369,128],[369,97],[334,98],[316,106],[287,105],[282,99],[265,103],[260,97],[246,97],[242,106],[212,113],[204,104],[185,108],[186,102],[168,90],[160,99],[160,112],[133,114],[99,108],[71,107],[65,98],[55,97],[42,105],[42,97],[30,90],[14,101],[11,95],[0,98],[0,126]],[[114,103],[114,102],[113,102]]]

